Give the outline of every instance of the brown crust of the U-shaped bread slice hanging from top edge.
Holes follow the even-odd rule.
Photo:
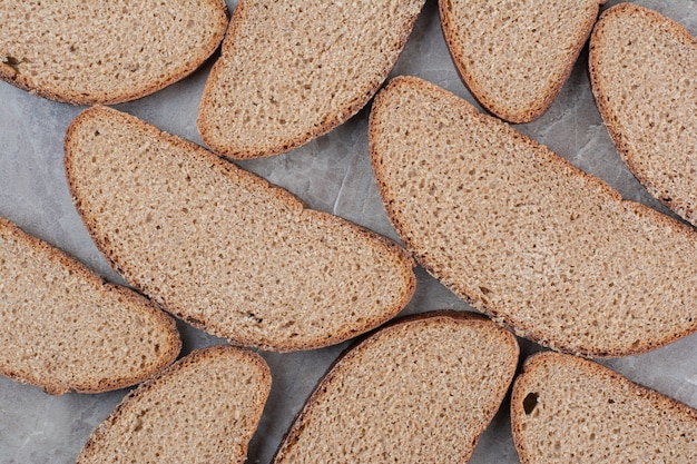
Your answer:
[[[468,87],[468,89],[472,92],[474,98],[489,111],[499,118],[512,122],[512,124],[523,124],[530,122],[534,119],[542,116],[547,109],[554,101],[559,91],[563,87],[565,82],[569,78],[571,70],[573,69],[573,65],[581,52],[581,49],[586,45],[586,40],[592,30],[593,24],[596,23],[596,19],[598,17],[598,11],[600,6],[605,4],[607,0],[593,0],[588,6],[588,9],[583,11],[583,16],[579,18],[580,22],[578,28],[576,29],[576,36],[569,40],[571,47],[567,53],[567,58],[560,63],[546,63],[546,66],[554,66],[557,71],[552,79],[550,79],[544,91],[534,99],[534,101],[530,101],[524,106],[513,106],[512,101],[501,101],[498,100],[494,96],[490,95],[490,92],[485,88],[485,83],[481,82],[471,72],[468,66],[467,53],[468,50],[463,49],[459,45],[458,36],[457,36],[457,24],[455,18],[453,17],[453,10],[451,6],[451,0],[439,0],[439,11],[441,17],[441,26],[443,29],[443,34],[445,36],[445,42],[448,43],[448,49],[450,50],[450,55],[453,59],[458,73],[460,78]],[[540,8],[549,8],[543,4],[544,2],[540,2]],[[521,40],[526,40],[524,38]],[[495,60],[495,57],[492,57],[492,60]],[[492,69],[493,72],[500,72],[497,69]]]

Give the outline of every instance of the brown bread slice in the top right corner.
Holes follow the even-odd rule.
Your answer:
[[[697,39],[646,8],[610,8],[590,42],[590,81],[620,156],[649,192],[697,226]]]

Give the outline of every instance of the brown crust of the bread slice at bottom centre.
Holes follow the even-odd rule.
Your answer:
[[[293,444],[298,440],[300,434],[303,433],[306,415],[310,414],[313,405],[321,399],[327,387],[338,377],[338,367],[343,366],[344,364],[352,363],[353,359],[361,356],[364,351],[370,351],[371,346],[380,344],[380,342],[385,337],[390,337],[391,333],[396,328],[410,325],[419,326],[431,324],[468,324],[480,326],[482,330],[497,330],[497,326],[494,324],[491,324],[490,319],[480,314],[463,310],[441,309],[399,317],[389,322],[382,327],[372,330],[369,334],[362,335],[361,337],[356,338],[356,340],[354,340],[351,346],[342,352],[342,354],[327,368],[326,373],[317,383],[317,385],[308,396],[307,401],[303,405],[302,409],[293,419],[293,423],[284,435],[283,440],[281,441],[281,444],[278,445],[278,448],[272,462],[274,464],[281,464],[285,462],[284,460],[286,458],[286,454],[288,453],[289,447],[293,446]],[[520,348],[512,333],[507,329],[500,329],[499,333],[501,335],[501,343],[505,344],[509,348],[511,359],[516,359],[513,363],[511,363],[510,378],[512,381],[517,366],[517,359],[520,354]],[[498,401],[494,399],[490,407],[488,407],[484,414],[485,421],[475,426],[475,430],[472,433],[471,442],[467,444],[467,450],[464,450],[461,462],[467,462],[471,457],[472,452],[477,446],[477,443],[479,443],[481,434],[484,432],[493,416],[499,411],[501,399],[503,399],[505,393],[509,389],[509,386],[510,384],[501,384],[499,385],[498,391],[491,392],[491,397]],[[337,405],[336,407],[340,408],[341,406],[342,405]]]

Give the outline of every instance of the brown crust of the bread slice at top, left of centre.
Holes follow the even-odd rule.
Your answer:
[[[321,125],[311,127],[305,134],[298,135],[288,140],[284,140],[283,142],[275,146],[259,146],[256,147],[256,149],[254,150],[239,150],[234,147],[216,142],[213,136],[213,132],[216,129],[207,120],[212,118],[212,116],[207,115],[207,108],[210,108],[216,103],[216,101],[214,101],[210,96],[212,89],[216,85],[216,81],[219,80],[219,75],[223,72],[223,65],[226,56],[235,52],[235,40],[237,39],[240,24],[245,21],[254,21],[253,18],[249,18],[248,3],[249,0],[239,0],[239,2],[237,3],[237,8],[233,12],[233,17],[230,18],[225,40],[223,41],[220,58],[218,58],[218,60],[214,65],[208,80],[206,81],[206,87],[204,88],[204,95],[202,97],[197,120],[198,131],[204,144],[206,144],[206,146],[209,147],[210,150],[213,150],[214,152],[228,157],[230,159],[253,159],[279,155],[282,152],[301,147],[310,142],[311,140],[324,134],[327,134],[335,127],[344,124],[352,116],[359,112],[361,108],[363,108],[371,100],[371,98],[373,98],[375,92],[380,90],[380,86],[382,86],[382,83],[390,75],[394,62],[396,62],[399,53],[402,51],[402,49],[406,45],[406,41],[409,40],[409,36],[411,34],[414,22],[416,22],[416,16],[414,16],[411,19],[409,26],[404,28],[404,30],[402,30],[399,45],[395,47],[394,60],[390,66],[387,66],[380,72],[380,77],[372,82],[369,82],[364,88],[354,92],[354,99],[345,101],[343,105],[338,106],[334,112],[327,113]],[[249,63],[249,66],[254,66],[254,63]]]

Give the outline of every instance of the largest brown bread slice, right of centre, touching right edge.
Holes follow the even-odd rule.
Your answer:
[[[416,78],[379,93],[369,145],[406,247],[518,335],[622,356],[697,330],[693,228]]]

